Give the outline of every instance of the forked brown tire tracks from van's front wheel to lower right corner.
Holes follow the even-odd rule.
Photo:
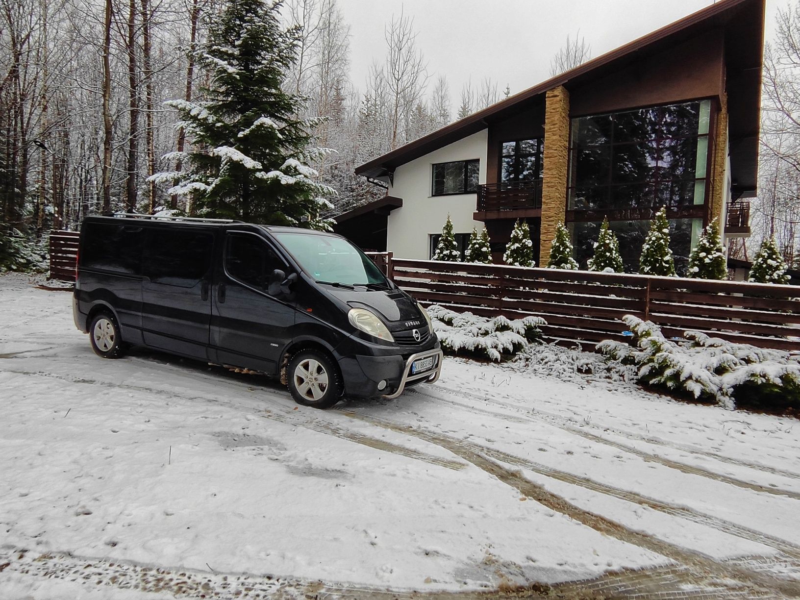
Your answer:
[[[785,579],[775,578],[767,574],[763,574],[757,570],[748,569],[746,566],[736,564],[725,564],[718,562],[713,558],[701,554],[694,550],[689,550],[677,546],[676,544],[665,542],[658,538],[653,538],[648,534],[643,534],[639,531],[632,530],[626,526],[622,526],[617,522],[611,521],[609,518],[602,515],[591,513],[574,504],[568,502],[558,494],[554,494],[546,490],[544,486],[531,482],[522,476],[518,471],[510,470],[498,462],[506,462],[508,464],[522,466],[526,469],[533,470],[534,472],[547,477],[555,478],[563,482],[573,483],[574,485],[582,486],[588,490],[594,490],[603,494],[621,498],[629,502],[642,504],[643,506],[650,506],[654,510],[660,510],[667,514],[687,518],[694,522],[701,522],[704,525],[714,526],[715,529],[724,530],[726,533],[736,534],[739,537],[746,539],[755,539],[756,541],[765,543],[767,546],[772,546],[781,550],[792,558],[800,559],[800,547],[794,546],[790,542],[772,538],[766,534],[758,531],[749,530],[745,527],[735,525],[722,521],[722,519],[713,518],[700,513],[695,513],[693,510],[683,509],[678,506],[670,506],[663,502],[658,502],[638,494],[633,494],[623,490],[618,490],[610,486],[604,486],[598,482],[590,479],[579,478],[572,474],[564,473],[551,469],[547,466],[538,465],[526,459],[515,457],[511,454],[506,454],[500,450],[494,450],[487,446],[481,446],[473,442],[465,442],[456,438],[451,438],[444,434],[436,434],[430,430],[425,430],[418,427],[401,425],[394,422],[388,422],[381,418],[375,418],[370,415],[356,413],[353,411],[341,411],[343,414],[351,418],[371,423],[373,425],[386,427],[386,429],[397,431],[408,435],[414,435],[426,442],[430,442],[437,446],[442,446],[446,450],[450,450],[456,456],[471,462],[474,466],[484,470],[490,475],[498,478],[506,485],[518,490],[521,494],[532,500],[539,502],[543,506],[547,506],[550,510],[554,510],[561,514],[573,518],[575,521],[588,526],[601,534],[608,535],[616,538],[622,542],[630,543],[634,546],[650,550],[656,554],[661,554],[666,558],[670,558],[676,562],[680,562],[686,566],[690,566],[693,570],[699,570],[701,573],[706,573],[710,577],[717,578],[731,578],[745,586],[754,586],[755,592],[759,594],[766,591],[775,592],[778,594],[786,594],[790,598],[800,598],[800,582],[787,581]],[[488,457],[488,458],[487,458]],[[494,462],[498,461],[498,462]],[[735,532],[735,533],[734,533]]]

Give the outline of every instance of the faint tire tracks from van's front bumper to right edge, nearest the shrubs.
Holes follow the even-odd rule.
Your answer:
[[[454,396],[461,396],[464,399],[473,399],[473,400],[476,400],[478,402],[486,402],[486,398],[482,398],[478,394],[474,394],[474,393],[466,391],[466,390],[454,390],[453,388],[450,388],[450,387],[447,387],[447,386],[442,386],[438,382],[435,384],[434,390],[436,388],[441,388],[442,390],[446,390],[449,394],[453,394]],[[455,402],[453,400],[449,400],[449,399],[446,399],[446,398],[440,398],[438,396],[434,396],[433,394],[427,394],[426,392],[422,392],[422,391],[418,390],[418,388],[414,388],[413,390],[411,390],[411,392],[413,394],[418,394],[419,396],[424,396],[426,398],[430,398],[431,400],[435,400],[436,402],[447,402],[449,404],[453,404],[454,406],[459,406],[459,407],[465,407],[466,406],[466,405],[462,404],[461,402]],[[502,402],[500,400],[495,400],[494,398],[492,399],[491,402],[493,404],[497,404],[499,406],[505,406],[506,408],[509,408],[509,409],[514,410],[516,412],[522,410],[521,406],[517,406],[517,405],[514,405],[514,404],[509,403],[509,402]],[[587,433],[587,432],[583,432],[578,427],[570,426],[569,423],[566,422],[565,418],[562,418],[562,417],[558,416],[557,414],[548,413],[546,411],[542,411],[542,410],[538,410],[538,409],[533,413],[527,413],[526,412],[525,416],[517,417],[517,416],[514,416],[514,415],[510,415],[510,414],[506,415],[506,414],[497,413],[497,412],[495,412],[493,410],[487,410],[487,409],[478,408],[476,406],[466,406],[466,408],[468,410],[473,410],[474,412],[492,414],[495,417],[503,418],[503,419],[506,419],[506,420],[511,421],[511,422],[530,422],[530,421],[536,420],[536,421],[545,422],[545,423],[548,423],[550,425],[557,426],[557,427],[559,427],[561,429],[564,429],[564,430],[568,430],[571,433],[580,434],[580,435],[583,435],[584,433]],[[718,460],[719,462],[726,462],[726,463],[728,463],[730,465],[742,466],[742,467],[746,467],[748,469],[759,470],[759,471],[762,471],[764,473],[769,473],[769,474],[773,474],[773,475],[779,475],[781,477],[786,477],[786,478],[790,478],[790,479],[800,479],[800,474],[793,473],[792,471],[782,470],[782,469],[778,469],[778,468],[775,468],[775,467],[772,467],[772,466],[767,466],[767,465],[761,465],[761,464],[758,464],[756,462],[744,461],[744,460],[738,459],[738,458],[730,458],[730,457],[725,456],[723,454],[715,454],[714,452],[709,452],[708,450],[703,450],[702,448],[696,448],[694,446],[684,446],[682,444],[674,444],[674,443],[663,442],[662,440],[659,440],[657,438],[643,438],[642,436],[639,436],[637,434],[632,434],[629,431],[614,429],[613,427],[591,425],[591,424],[588,425],[588,426],[593,428],[593,429],[597,429],[597,430],[610,431],[611,433],[618,434],[618,435],[620,435],[620,436],[622,436],[624,438],[628,438],[628,439],[634,440],[636,442],[646,442],[648,444],[653,444],[655,446],[663,446],[665,448],[671,448],[673,450],[678,450],[678,451],[682,451],[682,452],[688,452],[690,454],[697,454],[698,456],[704,456],[706,458],[713,458],[714,460]],[[587,435],[592,435],[592,434],[588,434],[587,433]],[[599,436],[596,436],[596,437],[598,438],[597,439],[598,442],[610,443],[610,445],[614,445],[614,442],[609,442],[605,438],[601,438]],[[629,450],[627,450],[628,447],[629,446],[622,446],[621,449],[629,451]],[[638,452],[643,452],[643,451],[642,450],[638,450]],[[646,452],[643,452],[643,454],[647,454],[648,456],[650,456],[650,457],[652,457],[654,459],[657,459],[657,460],[659,458],[658,455],[656,455],[656,454],[650,454],[650,453],[646,453]],[[668,460],[668,459],[665,459],[665,460]],[[686,467],[691,468],[691,469],[695,469],[696,468],[696,469],[702,470],[700,467],[693,467],[693,466],[689,466],[689,465],[684,465],[683,463],[680,463],[680,462],[675,462],[675,464],[676,465],[686,466]],[[708,472],[711,473],[711,474],[714,474],[713,471],[708,471]],[[727,477],[727,476],[726,475],[722,475],[722,477]],[[745,486],[757,485],[757,484],[750,484],[749,482],[742,482],[741,480],[738,480],[738,479],[735,479],[735,478],[730,478],[730,479],[731,479],[732,485],[737,485],[734,482],[741,482],[741,483],[745,484]],[[776,493],[776,490],[774,488],[769,488],[769,487],[765,487],[765,486],[762,486],[762,487],[764,487],[764,490],[762,490],[762,491],[765,491],[768,494],[775,494]],[[779,490],[779,491],[781,491],[781,490]],[[782,490],[782,491],[785,492],[785,490]],[[788,494],[794,494],[795,496],[800,498],[800,494],[797,494],[795,492],[788,492]],[[783,493],[783,494],[778,493],[777,495],[786,495],[786,493]]]

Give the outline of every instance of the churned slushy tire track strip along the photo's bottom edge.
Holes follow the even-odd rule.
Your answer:
[[[758,559],[758,557],[755,557]],[[603,574],[598,578],[554,584],[505,586],[502,590],[402,591],[353,584],[303,581],[247,573],[218,573],[174,566],[152,566],[114,558],[76,556],[66,552],[35,554],[10,548],[0,551],[0,572],[77,582],[114,590],[173,594],[178,598],[213,600],[723,600],[778,599],[782,596],[736,582],[714,582],[685,566],[666,565]]]

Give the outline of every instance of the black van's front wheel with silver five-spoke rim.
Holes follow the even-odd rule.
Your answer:
[[[289,391],[298,404],[330,408],[342,398],[342,376],[336,364],[318,350],[294,354],[286,374]]]

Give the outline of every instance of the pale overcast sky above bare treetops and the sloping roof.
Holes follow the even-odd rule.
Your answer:
[[[794,0],[795,2],[797,0]],[[767,0],[766,39],[778,6]],[[450,84],[455,113],[462,86],[490,76],[516,94],[549,77],[550,58],[569,34],[586,38],[592,58],[709,6],[711,0],[338,0],[350,24],[352,81],[363,90],[373,60],[386,56],[384,27],[392,14],[414,18],[431,82]],[[431,83],[432,86],[432,83]]]

